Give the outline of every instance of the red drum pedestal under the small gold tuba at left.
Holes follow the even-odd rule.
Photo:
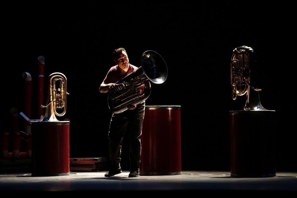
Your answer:
[[[32,122],[32,176],[69,175],[69,121]]]

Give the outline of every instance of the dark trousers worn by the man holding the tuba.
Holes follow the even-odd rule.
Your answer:
[[[114,167],[118,167],[120,164],[121,144],[126,129],[128,129],[130,168],[131,170],[139,169],[144,108],[145,102],[138,104],[134,110],[126,110],[119,114],[113,113],[111,116],[108,133],[109,157]]]

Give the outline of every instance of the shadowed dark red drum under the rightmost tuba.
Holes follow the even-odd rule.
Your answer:
[[[231,176],[275,176],[275,111],[230,111],[230,143]]]

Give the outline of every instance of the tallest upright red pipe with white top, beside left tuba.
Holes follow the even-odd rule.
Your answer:
[[[43,105],[43,92],[44,92],[44,56],[38,57],[38,107],[37,119],[44,115],[44,110],[40,106]]]

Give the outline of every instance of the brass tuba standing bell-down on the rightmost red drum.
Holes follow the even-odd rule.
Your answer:
[[[247,93],[247,102],[243,110],[266,110],[260,102],[256,82],[256,55],[251,47],[240,46],[233,50],[231,58],[232,98]]]

